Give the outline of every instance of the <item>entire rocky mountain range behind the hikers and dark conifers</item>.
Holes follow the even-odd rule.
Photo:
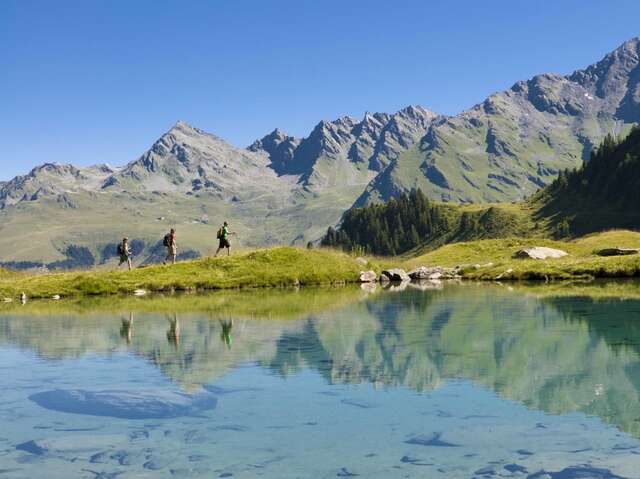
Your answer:
[[[353,206],[414,188],[445,202],[516,201],[638,121],[635,38],[456,116],[409,106],[321,121],[305,138],[275,129],[248,148],[178,122],[123,167],[47,163],[0,182],[0,261],[60,262],[73,245],[101,263],[123,235],[149,260],[172,226],[181,250],[204,254],[224,219],[243,246],[305,244]]]

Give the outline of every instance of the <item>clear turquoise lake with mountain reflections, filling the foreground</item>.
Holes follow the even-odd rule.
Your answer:
[[[0,478],[640,477],[638,300],[154,304],[0,310]]]

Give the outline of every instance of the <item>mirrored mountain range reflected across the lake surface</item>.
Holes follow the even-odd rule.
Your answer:
[[[177,315],[177,329],[173,314],[138,315],[130,335],[127,316],[4,317],[0,344],[50,358],[128,349],[185,389],[243,362],[418,391],[469,379],[531,408],[597,415],[640,436],[638,311],[637,300],[538,299],[464,285],[381,294],[297,321],[236,319],[232,345],[218,318],[197,314]]]

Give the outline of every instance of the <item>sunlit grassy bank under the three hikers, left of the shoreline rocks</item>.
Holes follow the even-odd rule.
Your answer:
[[[369,265],[368,267],[371,267]],[[229,258],[205,258],[133,271],[46,275],[0,272],[0,298],[87,296],[146,291],[189,291],[354,282],[363,266],[347,254],[298,248],[262,249]],[[375,268],[375,267],[374,267]]]

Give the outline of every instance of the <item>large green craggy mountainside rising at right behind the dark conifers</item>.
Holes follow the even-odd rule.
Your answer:
[[[357,204],[421,188],[442,201],[522,199],[560,170],[579,166],[607,133],[640,119],[640,39],[569,76],[517,82],[433,124],[392,162]]]

